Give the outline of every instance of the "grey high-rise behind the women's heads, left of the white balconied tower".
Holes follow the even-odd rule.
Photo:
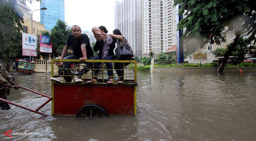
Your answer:
[[[115,28],[132,46],[136,56],[142,56],[142,16],[141,0],[116,1]]]

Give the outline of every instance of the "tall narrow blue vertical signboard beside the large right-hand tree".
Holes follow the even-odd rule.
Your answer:
[[[178,10],[180,9],[180,5],[176,6],[176,29],[178,29],[178,23],[183,19],[183,15],[178,14]],[[183,40],[180,38],[183,36],[183,29],[177,31],[177,63],[184,62],[184,50],[183,50]]]

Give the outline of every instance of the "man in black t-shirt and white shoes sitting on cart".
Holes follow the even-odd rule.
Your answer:
[[[85,62],[87,59],[93,58],[93,51],[90,45],[89,38],[86,34],[81,34],[81,28],[78,25],[72,26],[72,34],[67,38],[66,44],[62,51],[61,57],[59,59],[80,59],[81,62]],[[73,54],[64,57],[68,49],[72,47]],[[58,65],[58,64],[56,64]],[[65,68],[70,68],[71,62],[63,62],[60,66],[59,75],[67,75],[68,71]],[[64,69],[61,69],[64,68]],[[89,70],[88,70],[89,71]],[[63,73],[64,72],[64,73]],[[83,71],[80,71],[77,75],[83,75]],[[87,72],[85,72],[87,73]],[[64,77],[52,77],[50,79],[52,82],[66,82]],[[79,76],[75,76],[72,82],[83,82]]]

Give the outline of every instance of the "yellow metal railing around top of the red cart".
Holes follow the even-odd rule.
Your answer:
[[[61,63],[65,63],[65,62],[71,62],[71,64],[73,66],[78,66],[78,67],[74,67],[71,68],[70,66],[68,68],[54,68],[54,64],[56,64],[56,62],[61,62]],[[52,59],[51,60],[51,75],[52,77],[59,77],[59,76],[63,76],[66,78],[67,83],[70,83],[71,80],[73,79],[76,73],[78,73],[81,70],[89,70],[87,73],[84,73],[82,75],[80,75],[80,79],[83,80],[83,83],[91,80],[93,77],[97,77],[97,80],[99,80],[98,83],[106,83],[107,82],[107,78],[108,77],[114,77],[114,79],[118,79],[118,77],[124,77],[124,82],[129,83],[129,82],[133,82],[136,83],[137,82],[137,61],[135,60],[86,60],[87,65],[86,64],[82,64],[80,62],[80,60],[78,59]],[[98,69],[95,68],[94,66],[94,62],[102,62],[102,67],[99,67]],[[112,63],[113,65],[113,69],[108,69],[105,66],[105,63]],[[92,66],[89,66],[88,64],[91,63]],[[117,69],[114,68],[114,64],[116,63],[122,63],[123,64],[123,69]],[[134,64],[134,69],[130,69],[128,66],[125,67],[125,63],[130,63],[130,64]],[[101,64],[101,63],[98,63]],[[104,66],[104,67],[103,67]],[[54,74],[54,71],[56,72],[56,69],[58,70],[58,72],[62,69],[63,73],[62,74]],[[99,70],[99,73],[97,76],[95,76],[94,71],[95,70]],[[113,76],[108,76],[107,75],[107,71],[108,70],[113,70]],[[123,71],[123,75],[122,76],[118,76],[116,74],[115,71],[117,70],[122,70]],[[64,71],[68,71],[68,73],[64,73]],[[69,79],[67,78],[69,77]]]

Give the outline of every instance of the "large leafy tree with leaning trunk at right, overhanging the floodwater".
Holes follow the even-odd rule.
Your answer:
[[[181,4],[182,3],[182,4]],[[186,28],[183,39],[200,37],[203,43],[220,45],[224,26],[227,31],[235,31],[234,42],[227,46],[224,59],[218,68],[222,73],[227,59],[244,35],[250,35],[249,41],[256,42],[256,1],[254,0],[174,0],[174,6],[181,4],[178,14],[184,18],[178,23],[178,29]]]

